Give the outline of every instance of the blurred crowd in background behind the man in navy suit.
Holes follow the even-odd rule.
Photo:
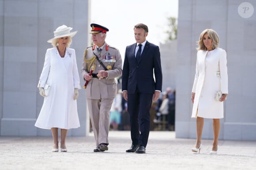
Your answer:
[[[161,93],[157,101],[153,101],[151,110],[151,130],[174,130],[175,127],[175,90],[170,87]],[[130,130],[127,101],[118,90],[117,96],[110,109],[110,130]]]

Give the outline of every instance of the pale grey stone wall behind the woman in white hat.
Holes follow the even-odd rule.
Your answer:
[[[60,25],[73,27],[72,38],[80,72],[88,46],[88,0],[0,0],[0,135],[50,136],[50,130],[34,127],[43,98],[37,85],[47,48],[46,41]],[[81,80],[83,84],[83,80]],[[84,90],[79,90],[81,127],[68,135],[87,131]]]

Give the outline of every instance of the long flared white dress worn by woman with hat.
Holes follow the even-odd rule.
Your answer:
[[[45,83],[50,85],[50,94],[44,98],[35,126],[42,129],[80,127],[74,88],[81,87],[74,49],[66,48],[64,58],[56,47],[47,49],[40,87]]]

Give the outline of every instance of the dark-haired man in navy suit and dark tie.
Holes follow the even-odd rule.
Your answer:
[[[147,34],[147,25],[135,25],[136,43],[125,50],[122,90],[128,104],[132,138],[132,146],[126,152],[146,152],[150,130],[149,111],[152,100],[157,100],[162,91],[159,47],[146,40]]]

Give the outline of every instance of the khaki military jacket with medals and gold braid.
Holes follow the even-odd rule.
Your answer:
[[[117,82],[115,80],[116,77],[120,77],[122,75],[122,58],[120,52],[117,48],[109,46],[108,50],[106,50],[107,43],[104,44],[104,47],[101,51],[99,59],[102,60],[105,67],[111,66],[111,70],[106,70],[108,72],[108,76],[99,80],[97,78],[92,78],[86,88],[86,98],[90,99],[105,99],[105,98],[115,98],[117,95]],[[93,46],[87,47],[87,54],[84,56],[86,59],[92,58],[94,54],[98,55],[97,47],[94,48]],[[86,53],[86,52],[85,52]],[[114,56],[116,59],[115,61],[104,61],[103,57],[105,55]],[[84,59],[85,59],[84,58]],[[82,78],[85,74],[89,73],[87,70],[88,64],[83,60],[83,67],[82,67]],[[107,67],[108,68],[108,67]],[[96,59],[96,68],[94,69],[93,73],[97,74],[99,70],[105,70],[99,61]]]

